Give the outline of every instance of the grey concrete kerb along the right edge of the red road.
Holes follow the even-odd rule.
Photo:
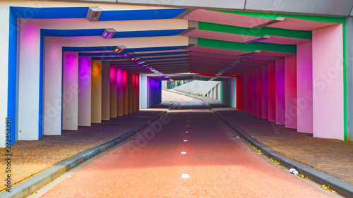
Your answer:
[[[169,90],[165,90],[165,91],[171,92]],[[173,92],[173,93],[181,94],[187,97],[192,97],[187,94],[182,94],[179,92]],[[335,192],[337,192],[338,194],[344,197],[353,197],[353,185],[351,183],[340,180],[339,178],[336,178],[332,175],[328,175],[327,173],[318,171],[314,168],[311,168],[310,166],[306,166],[303,163],[299,163],[297,161],[287,158],[286,156],[283,156],[282,154],[277,153],[277,151],[274,151],[273,149],[266,146],[265,144],[262,144],[261,142],[258,142],[257,140],[255,140],[253,137],[251,137],[251,135],[247,134],[244,130],[241,130],[241,128],[237,127],[236,125],[233,125],[232,123],[229,123],[228,120],[224,118],[220,113],[213,110],[212,106],[208,104],[208,101],[205,101],[204,99],[200,99],[198,97],[192,97],[192,98],[199,99],[205,102],[206,106],[212,109],[212,112],[214,113],[215,116],[220,118],[230,128],[232,128],[235,132],[237,132],[241,137],[243,137],[254,147],[257,147],[258,149],[260,149],[265,156],[268,156],[268,158],[279,161],[282,164],[282,166],[285,166],[287,168],[295,168],[299,173],[305,175],[310,180],[313,180],[318,184],[326,185],[326,186],[330,185],[330,188],[332,190],[335,190]]]

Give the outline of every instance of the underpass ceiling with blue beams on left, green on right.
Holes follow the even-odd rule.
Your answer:
[[[172,1],[171,4],[178,2]],[[192,2],[194,1],[190,1],[190,4],[193,4]],[[203,6],[213,6],[213,1],[203,2]],[[261,7],[256,7],[256,2],[265,5],[265,1],[259,3],[260,1],[249,0],[246,4],[256,10]],[[283,1],[287,2],[289,1]],[[142,4],[143,1],[136,3]],[[227,1],[227,4],[240,6],[239,1]],[[335,11],[342,7],[340,3],[335,5]],[[63,48],[64,51],[79,51],[80,56],[92,56],[93,59],[100,59],[104,63],[111,63],[136,73],[152,74],[150,70],[153,68],[160,71],[162,76],[196,73],[213,78],[220,74],[222,77],[233,77],[285,56],[293,56],[297,53],[297,44],[311,42],[312,30],[334,25],[342,20],[280,13],[269,15],[224,10],[122,7],[103,8],[97,22],[85,19],[88,7],[42,8],[30,22],[40,24],[44,36],[87,38],[84,47]],[[295,8],[297,7],[294,6],[293,9]],[[323,10],[325,6],[315,11]],[[252,28],[278,17],[284,17],[285,20],[260,29]],[[100,35],[106,28],[114,28],[117,31],[114,37],[109,39],[111,45],[90,46],[90,40],[103,39]],[[267,36],[271,37],[246,44]],[[185,42],[188,37],[189,43]],[[144,45],[144,40],[154,42],[155,46]],[[121,44],[127,47],[126,51],[114,53],[113,49]],[[138,57],[145,63],[138,64],[124,57],[124,53],[131,52],[134,53],[131,57]],[[145,64],[150,68],[146,68]]]

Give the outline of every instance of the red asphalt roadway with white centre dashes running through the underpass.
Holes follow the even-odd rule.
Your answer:
[[[139,132],[42,197],[329,197],[258,156],[202,101],[164,94],[179,106],[161,130]]]

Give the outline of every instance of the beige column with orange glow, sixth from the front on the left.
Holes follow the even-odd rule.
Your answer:
[[[110,119],[110,63],[102,63],[102,120]]]

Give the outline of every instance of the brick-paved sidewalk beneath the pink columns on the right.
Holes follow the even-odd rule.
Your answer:
[[[189,94],[181,92],[182,94]],[[252,116],[222,104],[219,100],[200,97],[229,123],[237,125],[253,138],[287,156],[319,171],[353,184],[353,142],[313,137],[268,120]]]

